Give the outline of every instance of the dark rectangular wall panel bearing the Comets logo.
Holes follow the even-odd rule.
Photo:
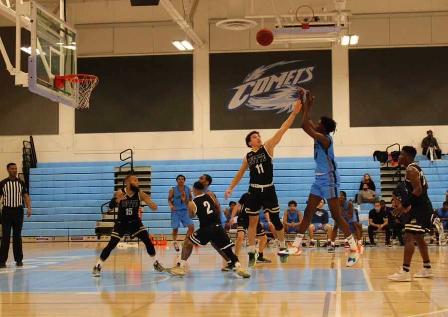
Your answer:
[[[278,129],[299,98],[297,88],[316,96],[315,122],[318,114],[332,116],[330,49],[213,53],[209,62],[210,130]],[[292,124],[300,126],[301,120]]]

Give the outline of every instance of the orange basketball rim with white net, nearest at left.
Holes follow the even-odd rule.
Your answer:
[[[76,109],[89,108],[90,93],[98,84],[98,77],[85,74],[56,75],[54,87],[63,89],[65,82],[70,84],[70,97],[73,100],[72,106]]]

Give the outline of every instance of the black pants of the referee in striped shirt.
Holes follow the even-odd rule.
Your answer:
[[[23,207],[5,207],[1,210],[1,244],[0,244],[0,263],[5,263],[8,259],[9,241],[11,239],[12,228],[12,253],[15,262],[22,262],[22,226],[23,226]]]

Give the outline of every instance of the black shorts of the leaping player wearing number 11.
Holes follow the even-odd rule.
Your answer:
[[[264,212],[278,213],[280,211],[274,185],[264,188],[249,186],[246,197],[246,213],[249,216],[258,216],[261,206],[263,206]]]

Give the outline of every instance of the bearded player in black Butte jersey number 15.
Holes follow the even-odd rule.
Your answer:
[[[149,240],[148,231],[138,216],[138,211],[143,200],[151,210],[157,210],[157,205],[148,198],[148,195],[140,191],[140,185],[135,175],[129,175],[124,179],[124,192],[118,190],[109,203],[109,208],[118,207],[117,218],[113,226],[111,241],[109,241],[106,248],[101,252],[100,259],[94,267],[92,275],[101,276],[101,269],[104,262],[107,260],[112,250],[116,247],[120,239],[129,232],[131,237],[139,238],[146,246],[146,251],[151,256],[154,270],[163,272],[165,268],[157,261],[154,246]]]

